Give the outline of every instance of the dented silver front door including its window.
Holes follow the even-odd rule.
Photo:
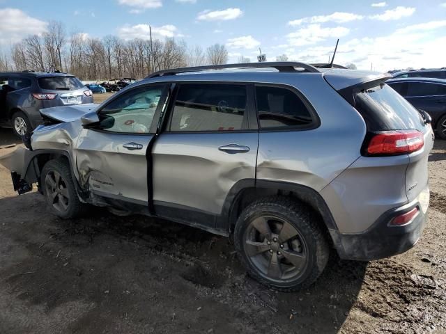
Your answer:
[[[82,129],[75,159],[82,185],[99,195],[148,205],[148,148],[164,104],[164,86],[139,86],[98,111],[100,124]]]

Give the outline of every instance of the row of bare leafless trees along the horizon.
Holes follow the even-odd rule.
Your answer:
[[[174,67],[227,63],[228,51],[215,44],[207,49],[187,46],[184,40],[150,38],[122,40],[115,35],[91,38],[66,33],[61,22],[49,22],[42,35],[29,35],[0,56],[0,71],[69,72],[83,80],[131,77],[141,79]]]

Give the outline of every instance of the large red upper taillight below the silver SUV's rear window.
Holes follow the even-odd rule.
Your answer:
[[[386,131],[371,137],[367,146],[369,155],[397,155],[420,150],[424,136],[417,130]]]

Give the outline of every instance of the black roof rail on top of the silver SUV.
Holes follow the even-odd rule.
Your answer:
[[[224,70],[226,68],[268,68],[272,67],[279,72],[319,72],[319,70],[306,63],[298,63],[293,61],[281,61],[281,62],[262,62],[262,63],[241,63],[241,64],[224,64],[224,65],[206,65],[206,66],[194,66],[194,67],[180,67],[172,68],[170,70],[161,70],[149,74],[146,79],[162,77],[164,75],[175,75],[187,72],[200,72],[206,70]],[[295,67],[303,68],[303,71],[296,70]]]

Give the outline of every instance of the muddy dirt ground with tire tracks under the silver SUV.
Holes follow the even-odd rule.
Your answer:
[[[8,143],[0,129],[0,155]],[[102,209],[62,221],[0,167],[0,333],[446,333],[446,141],[429,168],[415,248],[333,255],[314,286],[281,293],[247,277],[224,237]]]

